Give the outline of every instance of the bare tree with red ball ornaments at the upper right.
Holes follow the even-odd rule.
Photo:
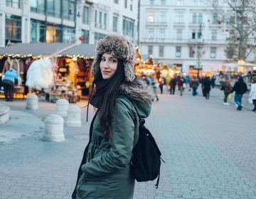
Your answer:
[[[256,47],[256,0],[206,0],[218,23],[229,31],[225,54],[230,60],[245,60]]]

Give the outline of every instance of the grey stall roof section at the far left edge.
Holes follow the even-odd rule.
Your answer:
[[[16,43],[8,47],[0,49],[0,55],[33,55],[33,56],[48,56],[53,55],[59,50],[68,48],[74,45],[73,43]]]

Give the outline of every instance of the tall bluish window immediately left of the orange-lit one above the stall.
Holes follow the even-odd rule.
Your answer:
[[[46,28],[44,21],[31,18],[31,43],[46,42]]]

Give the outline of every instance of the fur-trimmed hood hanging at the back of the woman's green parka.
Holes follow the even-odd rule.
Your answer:
[[[119,92],[132,100],[142,118],[149,116],[151,112],[151,100],[155,97],[153,87],[146,85],[144,80],[135,76],[132,82],[121,85]]]

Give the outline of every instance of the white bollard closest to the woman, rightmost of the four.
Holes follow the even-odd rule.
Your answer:
[[[68,119],[65,125],[68,127],[80,127],[82,125],[80,107],[72,106],[68,109]]]

